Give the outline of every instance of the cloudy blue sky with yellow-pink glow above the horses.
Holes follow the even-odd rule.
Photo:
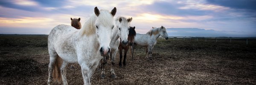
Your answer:
[[[140,34],[164,26],[256,37],[256,0],[0,0],[0,34],[49,34],[57,25],[70,25],[70,17],[80,17],[83,26],[96,6],[132,17]]]

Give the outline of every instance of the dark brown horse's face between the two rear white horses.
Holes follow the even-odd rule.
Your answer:
[[[129,28],[128,41],[129,44],[132,45],[134,43],[134,36],[136,35],[135,27]]]

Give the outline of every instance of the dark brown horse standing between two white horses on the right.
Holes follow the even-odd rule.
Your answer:
[[[125,49],[125,53],[124,53],[124,60],[123,60],[123,66],[125,67],[126,66],[126,63],[125,63],[125,59],[126,59],[126,54],[127,54],[127,51],[129,49],[129,47],[133,44],[134,42],[134,36],[136,35],[136,31],[135,31],[135,27],[130,27],[129,28],[129,34],[128,34],[128,41],[129,41],[129,44],[127,45],[122,45],[122,40],[120,39],[120,44],[119,44],[119,55],[120,55],[120,60],[119,60],[119,67],[122,67],[122,49]],[[130,49],[130,53],[131,53],[131,49]]]

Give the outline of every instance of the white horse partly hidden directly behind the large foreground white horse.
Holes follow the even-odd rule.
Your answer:
[[[122,45],[128,44],[128,34],[129,34],[129,28],[131,23],[132,17],[126,19],[125,17],[116,17],[115,23],[116,28],[113,29],[113,32],[116,34],[113,34],[110,42],[110,48],[111,48],[111,78],[116,78],[116,74],[114,73],[114,69],[112,68],[112,64],[114,64],[116,53],[118,51],[118,46],[120,44],[120,39],[122,40]],[[102,59],[102,73],[101,77],[105,77],[105,63],[106,58],[104,57]]]

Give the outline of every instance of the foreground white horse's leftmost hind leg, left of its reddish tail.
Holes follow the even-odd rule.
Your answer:
[[[49,68],[48,68],[48,72],[49,72],[48,81],[47,81],[48,85],[50,85],[52,82],[53,65],[55,64],[55,60],[58,54],[56,52],[49,51],[49,55],[50,55],[50,61],[49,61]]]

